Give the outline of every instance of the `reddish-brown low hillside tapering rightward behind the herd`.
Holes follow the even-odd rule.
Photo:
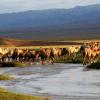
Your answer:
[[[79,42],[50,42],[0,38],[0,47],[80,45]]]

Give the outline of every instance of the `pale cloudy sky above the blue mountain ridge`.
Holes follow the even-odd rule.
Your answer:
[[[68,9],[92,4],[100,4],[100,0],[0,0],[0,13],[53,8]]]

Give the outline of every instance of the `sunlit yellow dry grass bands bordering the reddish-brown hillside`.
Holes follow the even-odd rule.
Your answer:
[[[9,40],[9,39],[8,39]],[[15,39],[10,39],[11,41],[17,41],[17,42],[30,42],[30,41],[32,41],[32,40],[15,40]],[[91,41],[100,41],[99,39],[90,39],[90,40],[66,40],[66,41],[55,41],[55,42],[74,42],[74,43],[86,43],[86,42],[91,42]],[[45,43],[47,43],[46,41],[44,41]],[[53,41],[52,41],[53,42]],[[48,46],[48,45],[45,45],[45,46],[42,46],[42,45],[40,45],[40,46],[7,46],[7,45],[2,45],[0,48],[29,48],[29,49],[31,49],[31,48],[34,48],[34,49],[38,49],[38,48],[40,48],[40,47],[42,47],[42,48],[65,48],[65,47],[69,47],[69,46],[80,46],[80,45],[50,45],[50,46]]]

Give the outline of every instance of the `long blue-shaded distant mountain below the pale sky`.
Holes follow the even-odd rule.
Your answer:
[[[0,14],[0,36],[23,39],[100,37],[100,5]]]

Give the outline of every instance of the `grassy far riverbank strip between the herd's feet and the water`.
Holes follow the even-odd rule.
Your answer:
[[[82,64],[83,63],[83,57],[81,57],[81,54],[77,54],[75,57],[74,55],[65,55],[61,57],[57,57],[54,59],[53,63],[73,63],[73,64]],[[50,60],[46,60],[44,64],[53,64],[50,62]],[[36,61],[36,62],[20,62],[20,61],[13,61],[13,62],[2,62],[0,63],[0,67],[26,67],[29,65],[34,64],[43,64],[42,61]]]

